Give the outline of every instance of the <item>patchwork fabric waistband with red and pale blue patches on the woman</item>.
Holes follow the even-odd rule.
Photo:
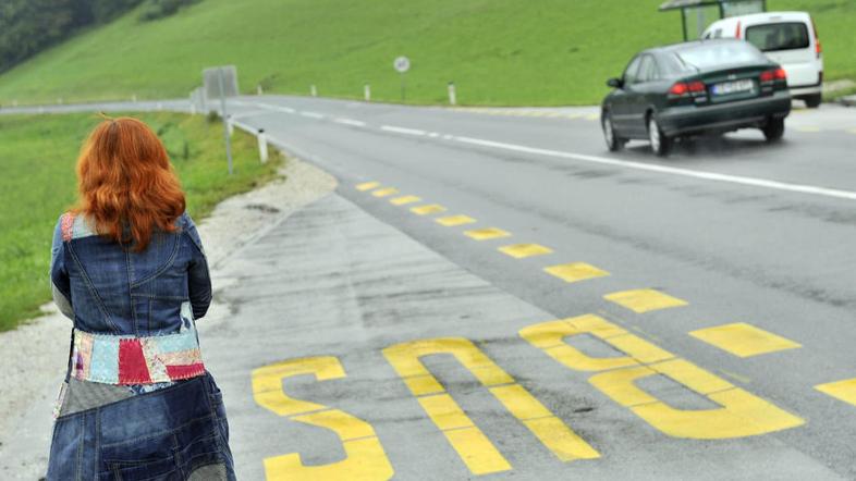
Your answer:
[[[71,375],[105,384],[154,384],[205,373],[195,329],[136,337],[74,330]]]

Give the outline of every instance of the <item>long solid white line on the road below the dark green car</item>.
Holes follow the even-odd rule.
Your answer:
[[[607,165],[616,165],[627,169],[636,169],[640,171],[659,172],[663,174],[681,175],[684,177],[704,178],[706,181],[727,182],[731,184],[749,185],[753,187],[771,188],[775,190],[794,192],[799,194],[810,194],[823,197],[833,197],[837,199],[856,200],[856,192],[840,190],[835,188],[817,187],[814,185],[790,184],[786,182],[768,181],[765,178],[744,177],[739,175],[719,174],[716,172],[696,171],[690,169],[681,169],[667,165],[657,165],[644,162],[634,162],[629,160],[608,159],[606,157],[587,156],[583,153],[563,152],[560,150],[541,149],[536,147],[526,147],[515,144],[504,144],[493,140],[482,140],[480,138],[460,137],[455,136],[454,140],[472,144],[482,147],[492,147],[504,150],[514,150],[517,152],[537,153],[540,156],[559,157],[563,159],[574,159],[583,162],[601,163]]]

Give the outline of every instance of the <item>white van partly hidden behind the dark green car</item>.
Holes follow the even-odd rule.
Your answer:
[[[820,106],[823,57],[815,22],[806,12],[767,12],[713,22],[701,38],[742,38],[787,73],[791,96]]]

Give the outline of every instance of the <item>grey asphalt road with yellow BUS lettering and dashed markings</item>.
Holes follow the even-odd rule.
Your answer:
[[[663,160],[590,108],[230,109],[340,182],[223,274],[248,478],[856,479],[852,110]]]

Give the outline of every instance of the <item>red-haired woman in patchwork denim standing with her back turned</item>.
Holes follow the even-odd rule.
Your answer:
[[[205,251],[157,135],[107,119],[77,161],[53,235],[53,299],[74,321],[50,480],[234,480],[220,390],[195,321]]]

